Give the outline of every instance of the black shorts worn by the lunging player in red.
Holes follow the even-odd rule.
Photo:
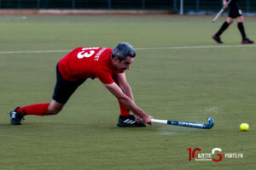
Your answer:
[[[65,80],[59,71],[58,65],[56,66],[57,82],[55,84],[55,91],[52,99],[55,101],[65,104],[74,91],[86,80],[80,79],[78,81],[67,81]]]

